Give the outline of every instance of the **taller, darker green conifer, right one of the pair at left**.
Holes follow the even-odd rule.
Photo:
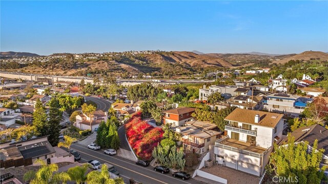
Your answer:
[[[51,144],[51,146],[57,146],[59,142],[59,132],[60,132],[60,126],[59,122],[61,120],[61,116],[63,115],[63,112],[59,110],[60,106],[58,103],[58,100],[56,98],[52,98],[49,101],[49,121],[48,121],[48,140]]]

